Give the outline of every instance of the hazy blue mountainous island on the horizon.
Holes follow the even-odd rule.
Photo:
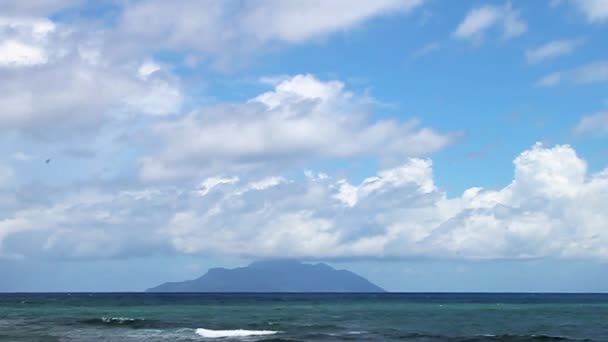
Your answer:
[[[212,268],[198,279],[165,283],[147,292],[384,292],[347,270],[295,259],[268,259],[234,269]]]

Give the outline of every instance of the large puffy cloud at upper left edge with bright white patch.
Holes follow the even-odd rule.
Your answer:
[[[165,115],[181,106],[174,78],[153,73],[150,62],[139,71],[132,61],[108,63],[94,35],[17,17],[0,18],[0,35],[0,129],[63,139],[117,114]]]

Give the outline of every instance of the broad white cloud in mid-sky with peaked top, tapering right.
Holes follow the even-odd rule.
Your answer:
[[[333,157],[389,160],[431,153],[454,139],[414,119],[373,119],[369,102],[340,81],[296,75],[245,103],[202,108],[155,124],[149,140],[157,148],[142,158],[141,176],[162,180],[214,167],[268,167]]]

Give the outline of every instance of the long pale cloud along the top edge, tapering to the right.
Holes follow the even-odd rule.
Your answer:
[[[273,43],[296,44],[344,32],[371,18],[407,13],[422,2],[145,0],[127,3],[117,38],[136,39],[140,47],[198,50],[225,66]]]

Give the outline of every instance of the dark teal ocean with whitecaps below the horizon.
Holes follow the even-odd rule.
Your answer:
[[[608,294],[0,294],[0,341],[608,341]]]

